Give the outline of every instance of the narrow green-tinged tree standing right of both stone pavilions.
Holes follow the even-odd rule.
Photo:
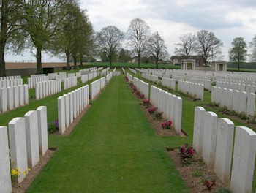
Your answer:
[[[228,51],[230,61],[236,61],[238,64],[238,71],[240,70],[240,64],[246,61],[247,45],[244,41],[244,37],[236,37],[233,39],[232,48]]]

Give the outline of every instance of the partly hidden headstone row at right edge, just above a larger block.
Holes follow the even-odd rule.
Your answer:
[[[256,86],[254,85],[245,85],[245,84],[237,84],[237,83],[227,83],[227,82],[216,82],[216,87],[232,89],[236,91],[245,91],[246,93],[255,93]]]

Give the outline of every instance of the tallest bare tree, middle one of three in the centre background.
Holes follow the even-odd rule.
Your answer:
[[[135,18],[129,23],[127,31],[128,45],[132,47],[133,53],[138,56],[138,66],[140,67],[140,59],[146,52],[146,43],[150,35],[148,24],[140,18]]]

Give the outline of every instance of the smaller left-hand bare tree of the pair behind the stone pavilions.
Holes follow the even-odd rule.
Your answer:
[[[197,42],[197,37],[195,34],[188,33],[181,35],[179,37],[181,42],[176,44],[175,53],[178,56],[189,56],[195,53],[195,46]]]

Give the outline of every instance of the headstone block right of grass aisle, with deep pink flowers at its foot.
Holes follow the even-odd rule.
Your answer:
[[[181,133],[182,99],[167,91],[151,86],[150,102],[154,107],[158,107],[163,112],[163,117],[172,121],[172,126],[176,132]]]

